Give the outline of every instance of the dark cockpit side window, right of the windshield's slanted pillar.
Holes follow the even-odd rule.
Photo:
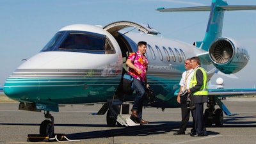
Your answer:
[[[104,35],[70,32],[61,43],[60,50],[115,53],[110,40]]]

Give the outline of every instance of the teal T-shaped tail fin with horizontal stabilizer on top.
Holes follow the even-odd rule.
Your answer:
[[[228,6],[223,0],[212,0],[211,6],[195,6],[188,8],[158,8],[159,12],[192,12],[192,11],[211,11],[207,29],[205,32],[204,40],[195,42],[196,47],[200,47],[205,51],[208,51],[211,43],[221,37],[223,18],[225,11],[232,10],[256,10],[256,6]]]

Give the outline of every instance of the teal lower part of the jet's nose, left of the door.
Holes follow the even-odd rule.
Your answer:
[[[113,95],[119,83],[120,79],[116,76],[8,78],[4,84],[4,93],[12,99],[26,102],[49,99],[54,99],[54,102],[59,104],[98,102],[106,100],[106,93]],[[95,96],[97,99],[90,96]],[[88,99],[72,100],[75,97]]]

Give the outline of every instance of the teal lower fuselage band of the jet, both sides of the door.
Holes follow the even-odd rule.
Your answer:
[[[156,93],[156,102],[152,106],[168,108],[177,103],[173,95],[179,88],[181,74],[170,72],[148,72],[148,83]],[[4,92],[12,99],[22,102],[56,104],[85,104],[106,102],[112,99],[120,84],[121,76],[83,76],[83,77],[44,77],[29,76],[20,73],[20,77],[10,76],[4,84]],[[156,75],[156,76],[155,76]],[[133,100],[134,95],[125,97]],[[170,102],[174,103],[170,105]],[[179,107],[179,104],[177,104]]]

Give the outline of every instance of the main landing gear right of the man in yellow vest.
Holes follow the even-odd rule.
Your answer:
[[[207,109],[205,109],[204,112],[204,121],[206,127],[212,127],[213,124],[215,124],[216,127],[223,126],[223,111],[221,108],[215,109],[215,105],[216,100],[214,96],[209,96],[209,102],[207,102]]]

